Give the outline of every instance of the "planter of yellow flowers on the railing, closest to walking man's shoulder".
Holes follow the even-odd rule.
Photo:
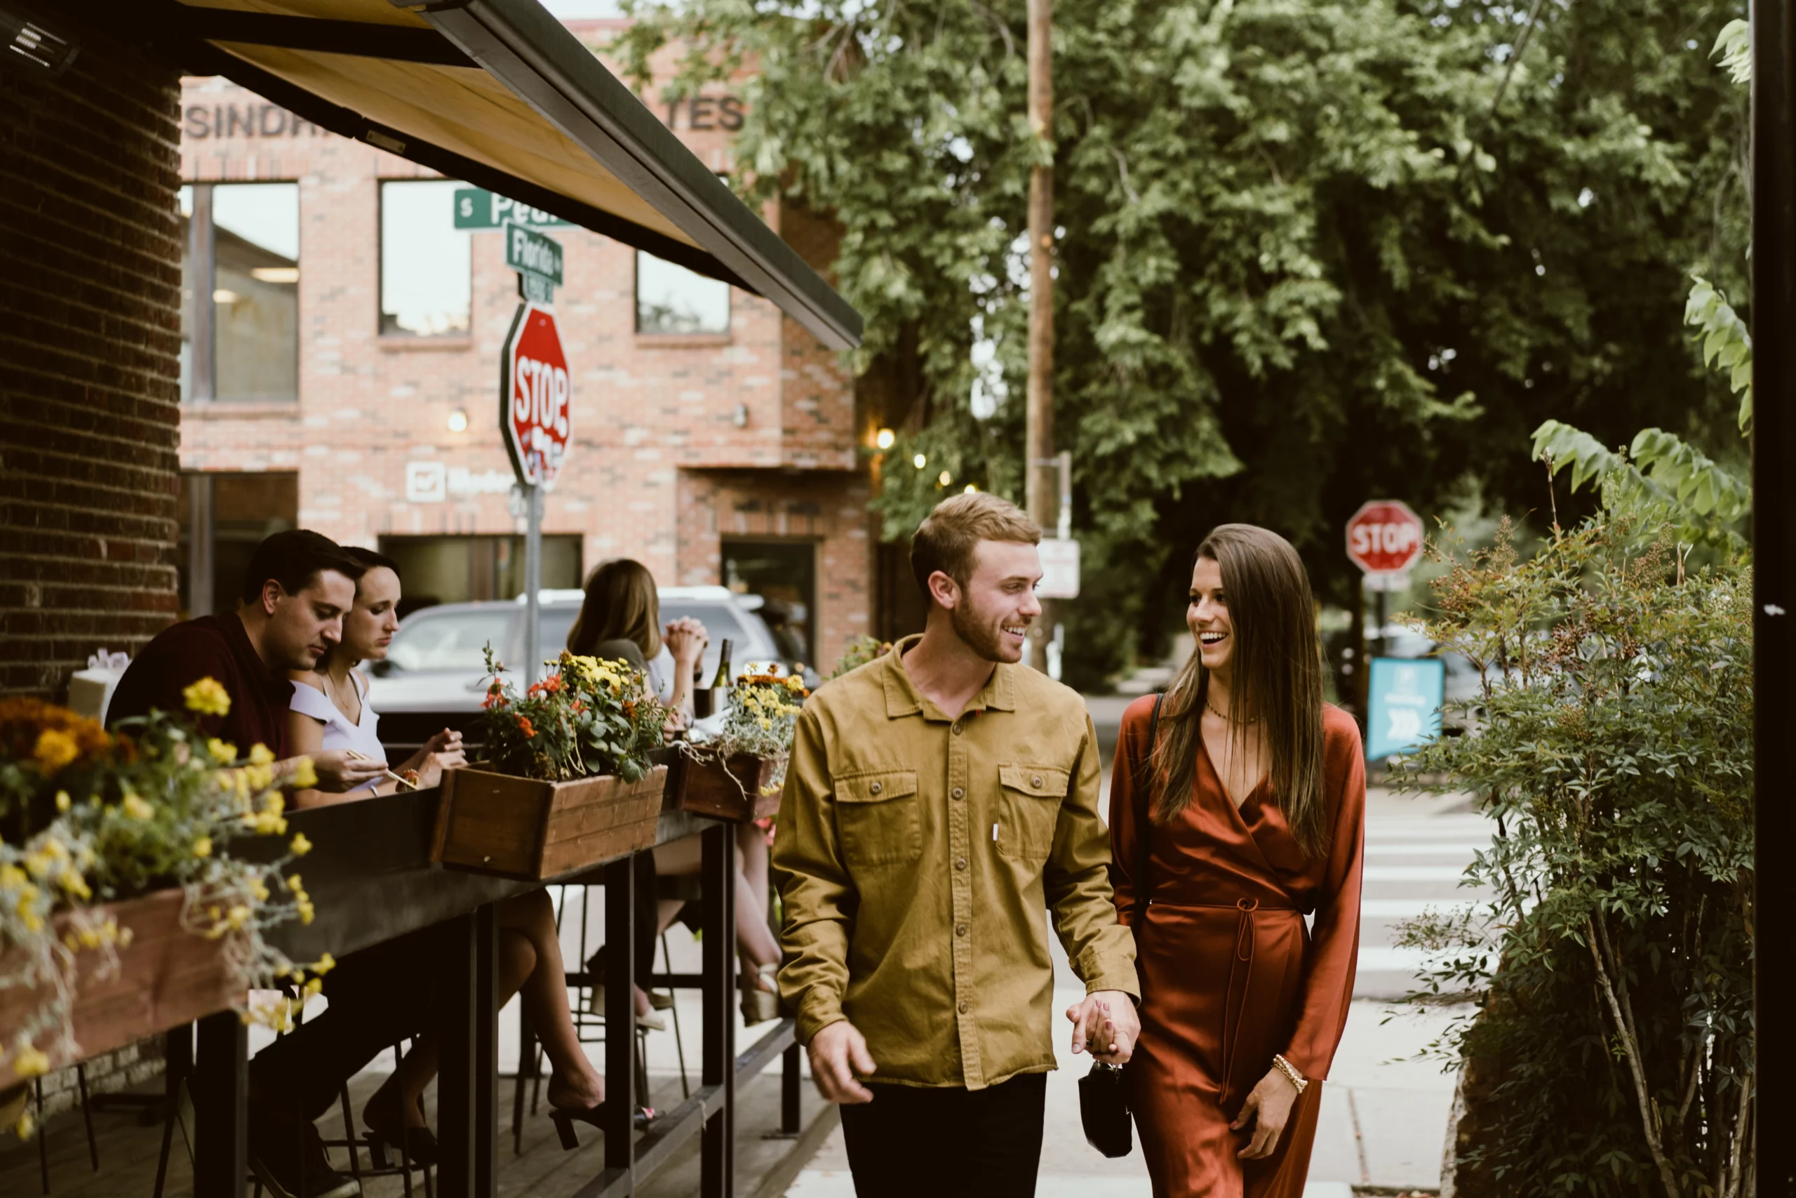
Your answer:
[[[740,675],[717,736],[681,745],[675,769],[684,776],[670,787],[679,810],[731,823],[772,817],[792,754],[792,726],[808,695],[803,666]]]

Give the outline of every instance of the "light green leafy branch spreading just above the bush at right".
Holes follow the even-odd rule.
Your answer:
[[[1546,420],[1534,429],[1534,456],[1550,474],[1570,467],[1573,492],[1595,481],[1602,507],[1636,528],[1670,526],[1679,541],[1746,548],[1737,524],[1753,508],[1751,487],[1665,429],[1642,429],[1633,445],[1609,451],[1589,433]]]

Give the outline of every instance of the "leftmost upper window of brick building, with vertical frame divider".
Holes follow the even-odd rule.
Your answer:
[[[181,401],[295,402],[298,183],[192,183],[181,225]]]

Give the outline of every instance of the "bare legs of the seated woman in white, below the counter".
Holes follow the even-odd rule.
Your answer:
[[[548,891],[530,891],[499,903],[497,968],[499,1006],[510,1002],[512,995],[523,993],[532,1029],[555,1069],[550,1078],[550,1106],[580,1110],[605,1101],[605,1078],[585,1058],[573,1027],[560,936],[555,932],[555,905]],[[368,1099],[368,1106],[381,1101],[386,1087],[397,1085],[406,1123],[424,1126],[418,1097],[435,1076],[436,1038],[420,1036],[399,1063],[399,1070]]]

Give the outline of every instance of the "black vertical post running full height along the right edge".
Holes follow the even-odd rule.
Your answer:
[[[1796,323],[1796,20],[1791,0],[1753,0],[1753,695],[1755,859],[1753,952],[1755,1105],[1758,1193],[1796,1194],[1796,1153],[1785,1128],[1796,1099],[1780,1085],[1796,1069],[1796,1029],[1782,1017],[1789,1002],[1792,936],[1785,918],[1796,902],[1796,871],[1782,864],[1796,848],[1796,803],[1789,771],[1774,747],[1789,735],[1791,670],[1796,670],[1796,379],[1791,325]],[[1771,1128],[1771,1135],[1760,1135]],[[1764,1148],[1758,1153],[1756,1148]]]

